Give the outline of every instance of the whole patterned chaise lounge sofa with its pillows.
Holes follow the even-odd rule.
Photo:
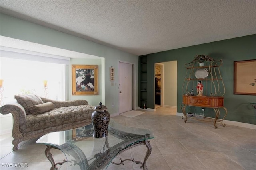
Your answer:
[[[12,150],[17,150],[21,141],[90,124],[95,107],[86,100],[57,101],[36,94],[15,98],[16,102],[0,107],[0,113],[13,116]]]

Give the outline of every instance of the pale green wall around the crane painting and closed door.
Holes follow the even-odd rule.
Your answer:
[[[86,26],[86,24],[85,24]],[[86,39],[82,39],[73,35],[62,33],[54,29],[43,27],[25,20],[20,20],[6,14],[0,14],[0,35],[10,37],[13,39],[20,39],[32,43],[48,45],[60,49],[76,51],[98,57],[101,59],[100,77],[100,96],[72,96],[72,86],[68,87],[68,100],[72,99],[86,99],[89,104],[98,104],[100,101],[105,100],[104,105],[108,107],[110,114],[118,113],[118,61],[126,61],[135,64],[135,74],[138,75],[138,56],[100,45]],[[75,57],[75,56],[74,56]],[[100,63],[100,61],[90,62],[90,59],[72,59],[71,64],[86,64],[86,63]],[[71,67],[71,64],[69,67]],[[114,86],[111,86],[109,81],[109,68],[113,66],[116,68]],[[68,70],[68,79],[71,80],[71,69]],[[136,77],[138,82],[138,76]],[[138,84],[136,84],[136,107],[138,107]],[[114,108],[112,109],[112,104]]]

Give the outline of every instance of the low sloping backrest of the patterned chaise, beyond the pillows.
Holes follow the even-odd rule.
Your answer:
[[[79,100],[68,100],[68,101],[58,101],[58,100],[52,100],[48,98],[40,97],[44,103],[46,102],[52,102],[54,104],[54,108],[59,107],[67,107],[67,106],[78,106],[78,105],[88,105],[87,100],[79,99]]]

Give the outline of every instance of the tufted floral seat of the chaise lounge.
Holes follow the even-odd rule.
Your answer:
[[[64,124],[88,123],[91,121],[93,109],[94,106],[91,105],[78,105],[54,108],[37,115],[26,115],[26,122],[20,125],[20,129],[23,133],[49,128],[58,131],[58,127]]]

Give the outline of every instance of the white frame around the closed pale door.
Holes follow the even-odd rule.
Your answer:
[[[136,110],[136,89],[135,89],[135,63],[131,63],[128,61],[118,61],[118,76],[120,76],[119,74],[119,67],[120,67],[120,63],[126,63],[126,64],[132,64],[132,110]],[[118,78],[118,114],[119,113],[119,78]]]

